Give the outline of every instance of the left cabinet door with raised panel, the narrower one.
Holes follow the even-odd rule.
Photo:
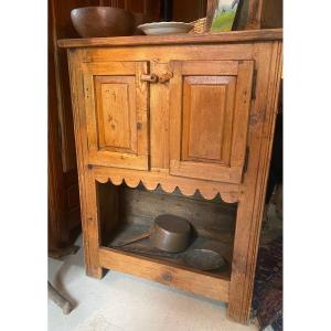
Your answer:
[[[88,162],[148,170],[148,62],[83,64]]]

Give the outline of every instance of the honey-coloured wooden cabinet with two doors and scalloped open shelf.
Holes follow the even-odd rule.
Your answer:
[[[100,278],[103,269],[114,269],[222,300],[229,318],[246,323],[282,31],[76,39],[58,45],[68,53],[87,275]],[[139,220],[138,211],[150,211],[151,201],[163,203],[158,211],[168,206],[179,214],[185,205],[210,234],[225,216],[214,229],[209,211],[234,206],[229,271],[199,271],[110,248],[107,237],[127,214]],[[190,210],[197,205],[203,213]]]

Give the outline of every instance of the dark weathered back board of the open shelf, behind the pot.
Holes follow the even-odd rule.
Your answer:
[[[115,186],[117,188],[117,186]],[[202,235],[224,233],[234,236],[236,207],[226,203],[188,197],[180,193],[164,193],[120,186],[121,221],[151,226],[160,214],[171,213],[186,218]]]

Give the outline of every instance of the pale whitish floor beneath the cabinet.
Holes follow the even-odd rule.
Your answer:
[[[275,207],[263,242],[281,232]],[[77,244],[81,246],[81,238]],[[49,331],[256,331],[226,319],[225,305],[120,273],[85,276],[83,249],[49,259],[51,282],[76,303],[71,314],[49,300]],[[273,330],[267,328],[266,331]]]

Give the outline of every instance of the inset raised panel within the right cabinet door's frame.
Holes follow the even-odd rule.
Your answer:
[[[182,161],[229,166],[233,76],[186,76],[183,88]]]

